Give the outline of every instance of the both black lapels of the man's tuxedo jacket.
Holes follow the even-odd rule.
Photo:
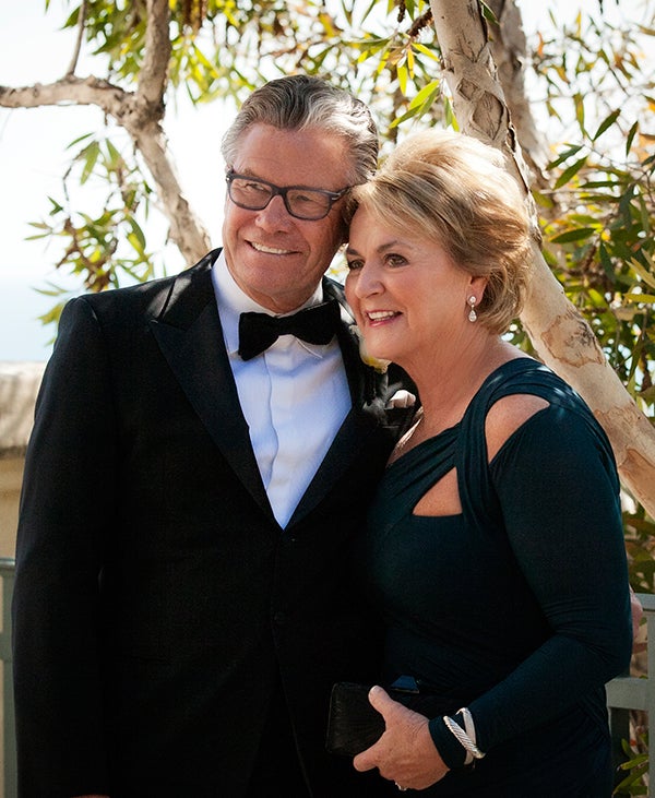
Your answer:
[[[195,266],[176,277],[164,307],[150,323],[162,354],[202,424],[243,486],[273,520],[225,350],[211,279],[216,255],[216,251],[210,252]],[[340,301],[342,324],[337,337],[353,407],[296,508],[289,526],[330,493],[368,437],[385,422],[385,378],[362,364],[355,320],[343,293],[325,281],[324,295],[325,299]]]

